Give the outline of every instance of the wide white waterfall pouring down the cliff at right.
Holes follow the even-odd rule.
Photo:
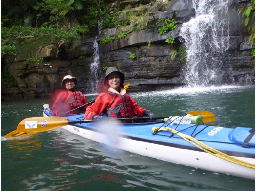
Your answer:
[[[225,83],[229,75],[226,50],[229,48],[228,0],[192,0],[195,17],[183,23],[188,86]]]

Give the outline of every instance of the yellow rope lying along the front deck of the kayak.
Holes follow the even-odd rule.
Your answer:
[[[223,160],[226,160],[226,161],[229,161],[229,162],[232,162],[232,163],[236,163],[236,164],[240,164],[240,165],[243,165],[243,166],[246,166],[246,167],[249,167],[249,168],[253,168],[255,169],[255,164],[252,164],[252,163],[249,163],[249,162],[246,162],[246,161],[243,161],[243,160],[240,160],[238,158],[235,158],[235,157],[232,157],[230,155],[227,155],[223,152],[220,152],[216,149],[213,149],[209,146],[207,146],[206,144],[198,141],[197,139],[195,139],[194,137],[191,137],[189,135],[186,135],[186,134],[183,134],[183,133],[180,133],[174,129],[171,129],[169,127],[153,127],[152,128],[152,131],[153,132],[156,132],[156,131],[171,131],[172,133],[175,133],[177,135],[179,135],[180,137],[182,137],[184,140],[188,141],[189,143],[191,143],[192,145],[195,145],[196,147],[198,147],[199,149],[207,152],[207,153],[210,153],[211,155],[214,155],[216,157],[219,157]]]

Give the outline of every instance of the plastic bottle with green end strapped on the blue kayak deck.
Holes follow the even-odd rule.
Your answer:
[[[201,124],[202,117],[200,115],[185,115],[185,116],[170,116],[169,118],[164,118],[165,122],[173,124]]]

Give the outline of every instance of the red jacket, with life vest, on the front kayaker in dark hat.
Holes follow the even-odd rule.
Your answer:
[[[142,111],[146,110],[138,106],[137,102],[129,95],[120,95],[111,92],[103,92],[96,98],[95,103],[88,106],[84,118],[91,120],[93,115],[102,112],[112,118],[143,117]]]

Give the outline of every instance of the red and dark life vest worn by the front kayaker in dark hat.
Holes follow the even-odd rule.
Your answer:
[[[104,113],[112,118],[132,118],[134,114],[132,99],[129,94],[116,94],[108,92],[114,96],[111,107]]]

